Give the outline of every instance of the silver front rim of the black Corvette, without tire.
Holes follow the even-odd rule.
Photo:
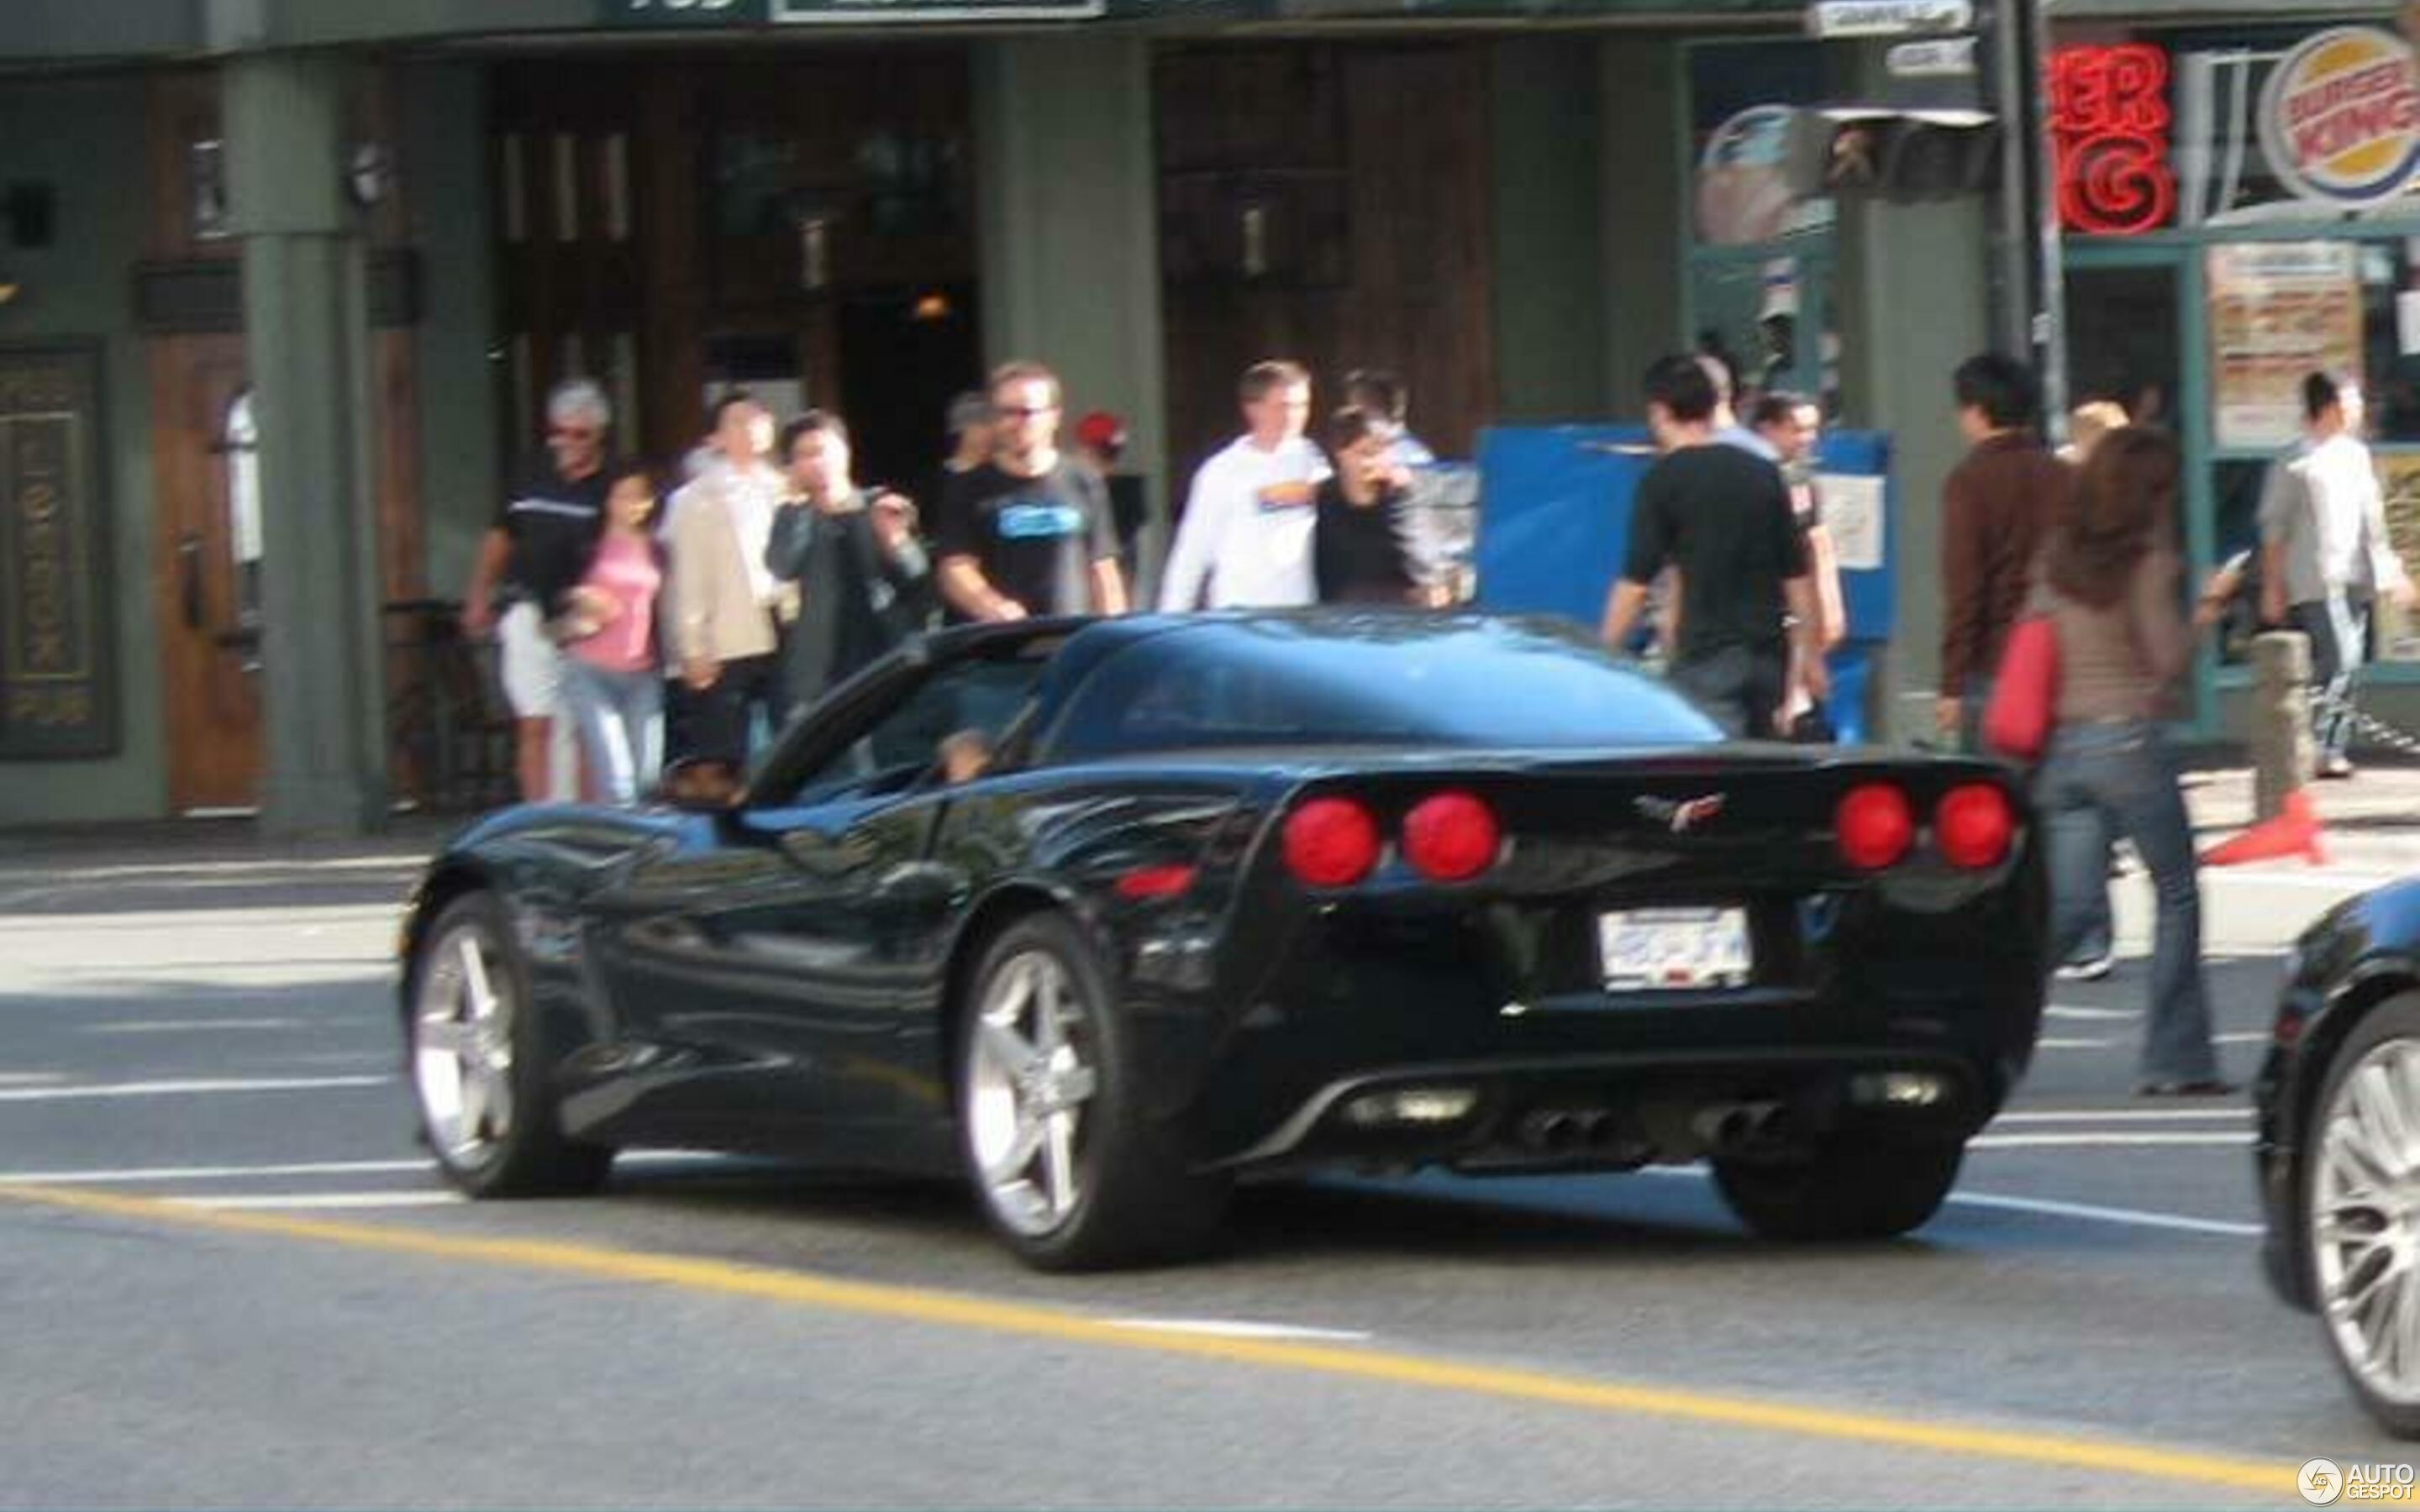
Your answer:
[[[496,1159],[513,1132],[513,977],[482,924],[428,951],[411,1004],[411,1081],[428,1139],[453,1166]]]

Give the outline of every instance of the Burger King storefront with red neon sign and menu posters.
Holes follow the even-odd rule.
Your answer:
[[[2306,17],[2306,19],[2297,19]],[[2413,12],[2103,0],[2050,10],[2069,402],[2176,431],[2197,573],[2258,549],[2301,377],[2367,394],[2389,535],[2420,569],[2420,85]],[[2200,728],[2238,733],[2251,622],[2205,653]],[[2420,723],[2420,622],[2381,612],[2372,694]]]

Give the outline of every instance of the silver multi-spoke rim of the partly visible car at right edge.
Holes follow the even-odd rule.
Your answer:
[[[2345,1369],[2391,1403],[2420,1403],[2420,1040],[2384,1040],[2335,1084],[2309,1227]]]

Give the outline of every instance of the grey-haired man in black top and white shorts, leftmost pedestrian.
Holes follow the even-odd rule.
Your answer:
[[[547,394],[547,462],[496,510],[479,544],[479,566],[462,595],[462,629],[496,634],[503,660],[503,697],[513,704],[515,774],[520,796],[576,796],[576,752],[554,760],[554,711],[559,704],[561,651],[547,636],[547,619],[588,571],[605,518],[605,428],[612,404],[586,377],[554,385]],[[561,777],[559,777],[561,774]]]

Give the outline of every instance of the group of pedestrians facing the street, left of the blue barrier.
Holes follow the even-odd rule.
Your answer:
[[[1164,610],[1442,602],[1406,518],[1428,450],[1404,385],[1353,373],[1355,399],[1307,435],[1297,363],[1241,380],[1244,433],[1193,477]],[[547,397],[547,460],[496,513],[465,627],[499,639],[525,798],[636,803],[670,764],[741,769],[791,716],[939,622],[1123,614],[1140,508],[1116,477],[1125,426],[1087,414],[1062,450],[1062,389],[1007,363],[949,404],[924,506],[862,489],[847,423],[719,397],[682,481],[610,460],[612,406],[588,380]],[[581,764],[552,762],[576,733]],[[963,755],[963,752],[961,752]]]

